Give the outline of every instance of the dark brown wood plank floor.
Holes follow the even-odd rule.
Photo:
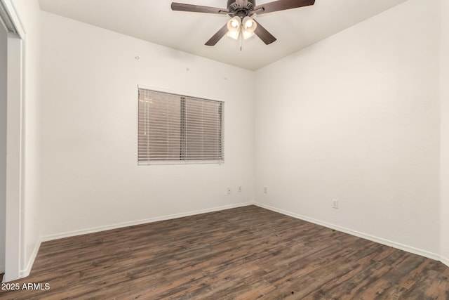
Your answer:
[[[250,206],[44,242],[0,299],[449,299],[438,261]]]

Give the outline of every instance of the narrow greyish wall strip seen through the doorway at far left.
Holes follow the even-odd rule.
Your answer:
[[[6,67],[8,41],[0,21],[0,273],[5,271],[6,242]]]

